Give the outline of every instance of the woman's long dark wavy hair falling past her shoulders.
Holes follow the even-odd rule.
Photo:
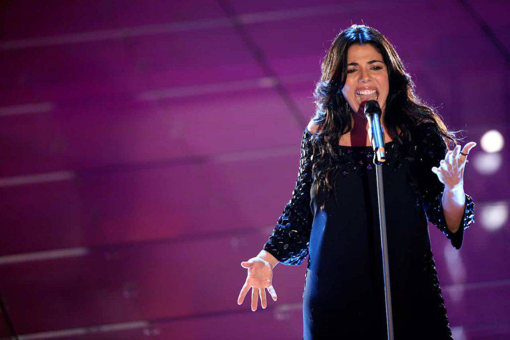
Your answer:
[[[402,60],[388,39],[374,28],[352,25],[340,32],[329,47],[321,65],[321,77],[314,98],[318,130],[312,136],[317,191],[333,191],[339,158],[335,152],[340,136],[351,131],[352,109],[342,94],[347,71],[347,50],[352,44],[371,44],[380,52],[388,69],[390,90],[383,124],[400,145],[411,141],[410,129],[421,123],[434,123],[446,144],[457,143],[456,132],[449,132],[435,108],[424,104],[415,94],[415,85]],[[400,131],[400,134],[397,132]]]

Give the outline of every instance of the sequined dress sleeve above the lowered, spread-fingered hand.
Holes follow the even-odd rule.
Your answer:
[[[299,265],[308,255],[313,214],[310,208],[312,186],[312,135],[304,130],[296,185],[292,198],[285,205],[276,226],[264,245],[264,250],[279,262]]]

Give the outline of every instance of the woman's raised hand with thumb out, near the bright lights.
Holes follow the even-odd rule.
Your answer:
[[[468,155],[475,145],[476,142],[474,141],[467,143],[464,145],[462,153]],[[432,167],[432,172],[438,175],[439,180],[446,188],[464,185],[464,167],[468,162],[468,157],[460,151],[461,145],[457,144],[453,150],[446,153],[445,159],[441,160],[439,168],[436,166]]]

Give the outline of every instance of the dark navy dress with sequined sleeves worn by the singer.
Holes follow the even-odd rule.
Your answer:
[[[382,165],[395,339],[451,339],[430,249],[427,220],[455,249],[474,222],[466,194],[461,226],[451,233],[441,205],[444,185],[430,168],[447,145],[433,123],[411,129],[412,142],[386,143]],[[296,186],[264,245],[279,262],[308,256],[303,338],[386,338],[386,309],[372,147],[338,145],[340,169],[332,196],[317,193],[311,134],[305,130]]]

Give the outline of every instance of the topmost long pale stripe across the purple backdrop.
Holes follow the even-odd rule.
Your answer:
[[[371,4],[370,10],[387,9],[398,7],[399,4],[408,4],[409,2],[396,2],[391,5]],[[353,13],[360,10],[367,10],[367,5],[363,3],[353,3],[349,6],[314,6],[295,8],[289,10],[276,10],[258,13],[245,13],[236,16],[236,20],[242,24],[282,21],[288,19],[305,18],[310,16],[321,16],[327,14]],[[129,37],[139,37],[155,35],[162,33],[177,33],[196,30],[205,30],[212,28],[232,27],[229,18],[199,19],[179,22],[167,22],[154,25],[140,25],[134,27],[124,27],[111,30],[97,30],[81,33],[59,34],[32,39],[17,39],[0,42],[2,50],[17,50],[19,48],[40,47],[63,45],[72,43],[92,42],[101,40],[121,40]]]

